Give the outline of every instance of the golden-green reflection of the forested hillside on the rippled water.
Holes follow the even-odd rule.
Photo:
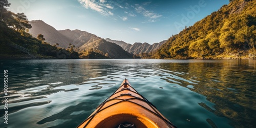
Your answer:
[[[212,110],[205,103],[199,103],[208,111],[227,117],[232,120],[231,125],[235,127],[253,127],[253,121],[256,119],[255,61],[161,63],[160,68],[173,71],[168,72],[170,76],[186,79],[184,81],[175,77],[166,77],[166,81],[178,81],[183,87],[193,85],[194,89],[189,88],[191,91],[206,96],[207,100],[216,104],[215,110]]]

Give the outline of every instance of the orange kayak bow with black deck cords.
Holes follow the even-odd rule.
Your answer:
[[[124,123],[134,127],[176,127],[127,79],[78,127],[118,127]]]

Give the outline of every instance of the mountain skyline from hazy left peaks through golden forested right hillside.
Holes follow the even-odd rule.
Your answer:
[[[81,58],[256,58],[256,1],[232,0],[179,34],[150,45],[100,38],[81,30],[56,30],[42,20],[29,22],[29,33]],[[146,53],[146,54],[145,54]]]

